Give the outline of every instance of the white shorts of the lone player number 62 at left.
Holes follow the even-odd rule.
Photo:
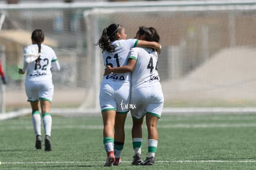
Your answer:
[[[28,81],[25,82],[25,91],[28,97],[28,101],[37,100],[53,100],[54,86],[49,81]]]

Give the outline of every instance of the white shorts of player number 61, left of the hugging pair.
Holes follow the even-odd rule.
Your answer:
[[[129,111],[130,83],[108,84],[101,83],[100,107],[101,112],[115,110],[117,113]]]

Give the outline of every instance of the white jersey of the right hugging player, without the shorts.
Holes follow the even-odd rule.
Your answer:
[[[129,58],[136,60],[132,71],[132,88],[147,87],[160,82],[157,51],[151,48],[132,48]]]

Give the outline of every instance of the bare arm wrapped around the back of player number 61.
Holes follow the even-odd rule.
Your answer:
[[[105,73],[104,75],[108,75],[111,73],[125,73],[125,72],[132,72],[134,70],[136,64],[136,60],[129,58],[126,66],[122,67],[111,67],[111,66],[106,66]]]

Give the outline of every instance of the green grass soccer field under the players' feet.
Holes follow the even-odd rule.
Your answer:
[[[256,114],[163,114],[154,166],[132,166],[131,117],[112,169],[256,169]],[[30,116],[0,121],[0,169],[102,169],[102,119],[53,116],[53,151],[35,149]],[[143,159],[147,129],[143,129]],[[43,147],[44,148],[44,147]],[[108,169],[108,168],[105,168]]]

